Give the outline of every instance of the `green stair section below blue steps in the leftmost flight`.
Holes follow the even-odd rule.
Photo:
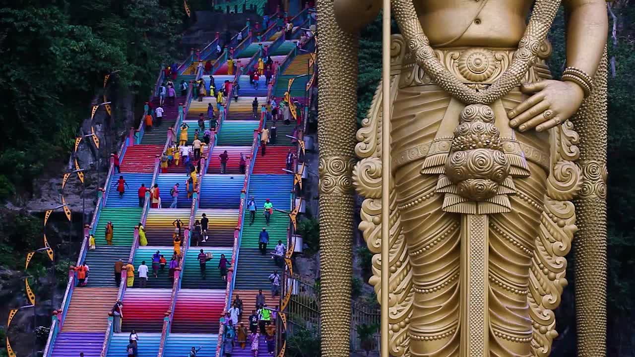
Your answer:
[[[106,224],[110,221],[112,226],[112,245],[131,246],[135,239],[135,226],[141,219],[142,208],[138,207],[105,207],[99,215],[97,229],[95,230],[95,243],[106,244]]]

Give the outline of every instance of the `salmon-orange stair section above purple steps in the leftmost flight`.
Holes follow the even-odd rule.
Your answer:
[[[62,332],[101,332],[117,300],[117,288],[76,287],[70,297]]]

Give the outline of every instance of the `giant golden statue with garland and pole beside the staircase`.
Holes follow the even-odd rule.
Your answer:
[[[391,275],[392,356],[549,356],[574,234],[578,353],[605,355],[608,20],[605,0],[563,3],[556,80],[559,0],[391,0],[382,157],[381,85],[355,136],[355,33],[380,1],[317,1],[323,356],[349,353],[353,188],[377,293],[382,263]]]

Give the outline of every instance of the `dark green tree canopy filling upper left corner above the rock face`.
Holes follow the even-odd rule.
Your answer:
[[[0,199],[30,192],[69,156],[104,75],[147,98],[182,31],[178,0],[26,0],[0,4]],[[116,104],[116,103],[115,103]],[[5,184],[8,180],[12,185]]]

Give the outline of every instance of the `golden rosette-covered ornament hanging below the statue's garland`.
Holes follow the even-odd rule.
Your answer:
[[[464,214],[510,212],[507,195],[516,193],[512,176],[514,173],[517,176],[529,174],[522,152],[524,165],[521,164],[521,170],[512,170],[510,161],[519,160],[510,158],[513,152],[505,153],[505,146],[513,149],[514,143],[518,145],[518,142],[513,138],[502,140],[495,125],[494,111],[484,104],[465,107],[453,134],[451,139],[441,138],[450,147],[445,152],[438,152],[441,156],[434,160],[441,164],[439,159],[445,158],[442,170],[439,170],[441,165],[435,165],[436,171],[441,173],[436,192],[445,194],[443,210]],[[424,161],[422,172],[425,170]]]

